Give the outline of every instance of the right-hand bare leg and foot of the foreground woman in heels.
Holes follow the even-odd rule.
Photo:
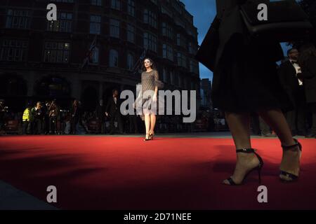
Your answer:
[[[295,144],[287,120],[284,118],[281,110],[271,109],[268,111],[259,111],[258,113],[261,118],[265,120],[265,123],[270,125],[272,130],[275,131],[282,145],[291,146]],[[298,151],[298,147],[283,151],[280,169],[298,176],[300,170],[300,156],[301,152]],[[283,178],[286,179],[286,177]]]

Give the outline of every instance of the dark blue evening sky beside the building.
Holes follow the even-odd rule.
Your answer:
[[[194,24],[199,32],[198,41],[202,43],[206,32],[208,31],[211,22],[216,15],[216,1],[215,0],[181,0],[185,3],[185,8],[194,16]],[[287,50],[285,44],[282,44],[284,52]],[[213,73],[206,69],[205,66],[199,64],[200,78],[209,78],[212,80]]]

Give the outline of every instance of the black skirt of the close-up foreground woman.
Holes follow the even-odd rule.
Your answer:
[[[230,112],[289,111],[293,105],[279,83],[272,45],[234,36],[213,73],[213,107]]]

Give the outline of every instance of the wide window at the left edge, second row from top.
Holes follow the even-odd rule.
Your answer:
[[[3,40],[0,50],[0,61],[25,62],[27,41]]]

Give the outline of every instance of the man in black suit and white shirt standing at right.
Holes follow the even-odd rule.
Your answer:
[[[287,91],[289,98],[294,104],[294,110],[285,114],[287,122],[293,135],[305,135],[305,94],[303,82],[297,77],[301,73],[301,67],[298,65],[298,50],[292,48],[288,50],[289,60],[279,66],[278,75],[282,86]]]

